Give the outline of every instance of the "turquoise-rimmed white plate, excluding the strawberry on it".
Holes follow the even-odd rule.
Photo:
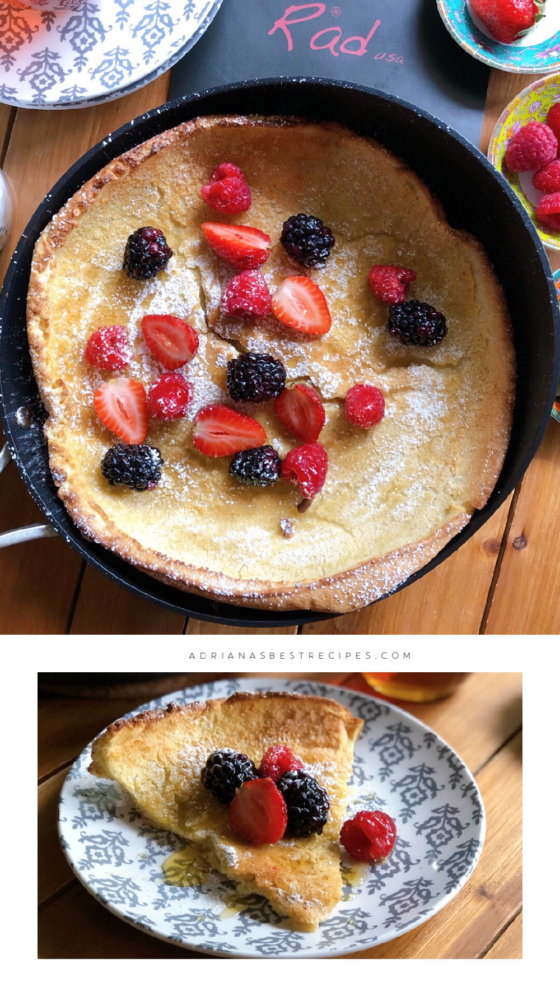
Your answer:
[[[491,38],[465,0],[437,0],[443,23],[469,55],[508,73],[553,73],[560,69],[560,4],[547,0],[545,16],[513,45]]]

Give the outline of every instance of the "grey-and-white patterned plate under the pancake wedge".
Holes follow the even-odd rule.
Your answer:
[[[349,812],[378,808],[397,822],[395,850],[344,896],[313,934],[290,929],[263,898],[231,916],[232,887],[166,884],[163,862],[184,847],[155,829],[115,783],[88,774],[90,747],[62,788],[59,834],[74,873],[104,906],[172,944],[226,957],[319,958],[371,948],[408,933],[446,906],[471,876],[484,844],[484,806],[473,776],[423,723],[367,695],[309,681],[243,679],[165,695],[135,712],[237,691],[323,695],[365,721],[356,749]]]

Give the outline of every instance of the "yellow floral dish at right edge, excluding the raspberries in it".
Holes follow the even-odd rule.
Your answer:
[[[505,164],[505,154],[508,143],[523,125],[529,121],[546,121],[548,109],[560,101],[560,73],[545,76],[544,79],[532,83],[514,97],[508,104],[502,116],[498,119],[488,149],[488,158],[493,166],[503,174],[507,182],[519,197],[524,208],[549,249],[560,250],[560,232],[552,232],[537,222],[535,207],[543,194],[535,190],[532,178],[533,172],[510,173]]]

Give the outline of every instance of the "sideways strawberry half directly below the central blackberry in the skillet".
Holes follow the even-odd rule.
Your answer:
[[[262,425],[226,405],[202,408],[195,419],[193,442],[205,456],[233,456],[266,443]]]

